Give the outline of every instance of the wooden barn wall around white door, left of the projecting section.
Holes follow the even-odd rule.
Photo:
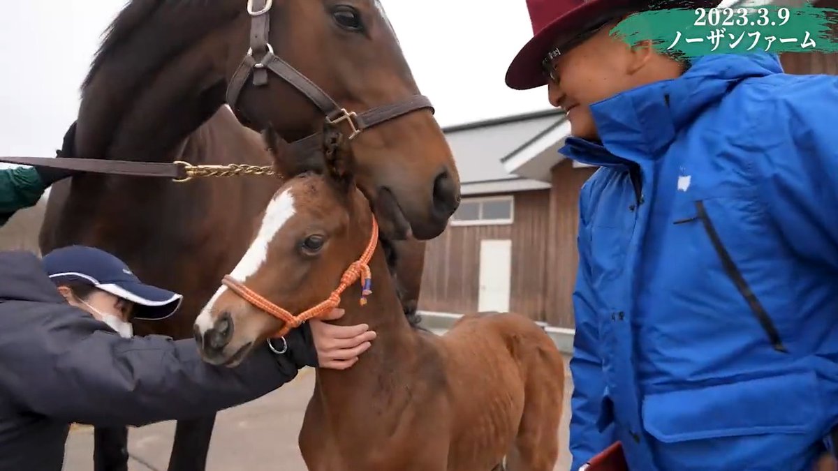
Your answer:
[[[511,225],[449,225],[428,241],[419,308],[468,313],[478,308],[480,241],[512,241],[510,309],[545,320],[550,190],[514,193]],[[489,195],[486,195],[489,196]]]

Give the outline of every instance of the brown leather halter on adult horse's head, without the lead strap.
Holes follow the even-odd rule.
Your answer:
[[[431,101],[428,100],[427,96],[422,95],[414,95],[396,103],[377,106],[360,114],[355,111],[347,111],[346,108],[339,106],[318,85],[308,80],[308,77],[273,53],[273,47],[268,40],[271,29],[272,6],[273,0],[247,0],[247,13],[252,18],[251,46],[250,49],[247,49],[245,58],[241,60],[241,64],[239,64],[227,85],[227,104],[230,105],[234,113],[236,110],[235,104],[239,100],[239,95],[245,87],[248,77],[253,76],[251,83],[254,86],[267,85],[267,72],[269,70],[307,96],[326,116],[328,126],[336,127],[345,122],[349,126],[348,139],[350,141],[369,127],[375,127],[382,122],[413,111],[429,108],[433,112]],[[257,61],[253,54],[262,54],[261,60]],[[303,137],[292,142],[291,147],[292,152],[303,153],[307,156],[318,151],[322,152],[323,133],[316,132],[308,137]]]

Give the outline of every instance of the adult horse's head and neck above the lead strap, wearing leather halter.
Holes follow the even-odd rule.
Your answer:
[[[391,237],[435,237],[458,206],[451,149],[380,0],[131,0],[82,96],[85,157],[153,158],[227,102],[248,127],[305,138],[308,169],[323,165],[308,150],[334,122]]]

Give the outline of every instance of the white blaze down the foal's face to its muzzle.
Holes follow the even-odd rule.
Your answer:
[[[267,205],[265,215],[262,218],[259,231],[256,233],[256,238],[248,247],[245,255],[241,257],[239,263],[235,266],[230,276],[236,280],[246,283],[247,278],[256,273],[267,259],[268,245],[277,233],[282,229],[288,220],[296,213],[294,209],[294,198],[291,194],[291,188],[285,189],[281,194],[275,195],[271,203]],[[207,330],[213,327],[215,319],[213,318],[213,307],[227,287],[221,285],[218,291],[215,292],[209,303],[206,304],[201,311],[198,318],[195,319],[195,325],[198,326],[200,334],[206,333]]]

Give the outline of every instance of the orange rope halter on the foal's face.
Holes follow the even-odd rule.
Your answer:
[[[361,254],[357,261],[354,261],[351,265],[349,265],[349,268],[346,269],[344,275],[340,277],[340,284],[337,288],[335,288],[332,294],[326,298],[325,301],[319,303],[313,308],[309,308],[303,313],[300,313],[298,316],[294,316],[287,310],[271,303],[266,298],[251,290],[251,288],[246,287],[243,283],[235,280],[233,277],[230,277],[230,275],[225,275],[222,282],[229,287],[231,291],[238,294],[242,299],[251,303],[256,308],[260,308],[262,311],[271,314],[273,317],[285,321],[285,325],[283,325],[282,329],[280,329],[275,335],[275,338],[283,337],[288,333],[288,331],[291,329],[297,329],[297,327],[302,325],[308,319],[318,318],[323,316],[325,313],[331,312],[334,308],[337,308],[340,304],[341,293],[343,293],[350,284],[358,280],[361,275],[364,275],[364,277],[360,278],[362,289],[360,305],[364,306],[367,303],[366,297],[372,294],[372,272],[370,272],[369,263],[372,258],[372,254],[375,252],[375,246],[377,244],[378,223],[375,222],[375,216],[373,216],[372,235],[370,235],[370,242],[367,244],[364,253]]]

